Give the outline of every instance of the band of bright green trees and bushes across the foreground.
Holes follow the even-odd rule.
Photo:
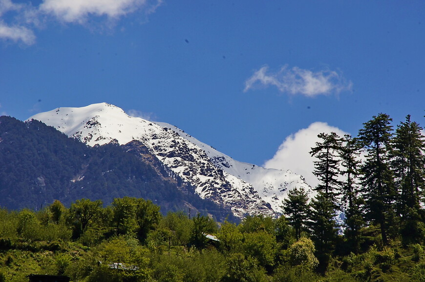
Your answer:
[[[421,244],[384,246],[372,225],[359,233],[357,254],[343,249],[348,239],[335,233],[320,273],[315,233],[301,230],[297,239],[294,222],[283,216],[248,216],[236,225],[183,211],[162,216],[137,198],[116,198],[107,207],[54,201],[37,212],[0,209],[0,282],[29,274],[74,282],[423,281]]]

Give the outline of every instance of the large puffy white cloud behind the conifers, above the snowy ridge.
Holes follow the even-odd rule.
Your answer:
[[[319,181],[313,174],[316,158],[310,156],[311,148],[315,146],[320,133],[335,132],[339,136],[348,134],[338,127],[330,126],[326,122],[314,122],[308,128],[298,130],[297,133],[288,136],[279,146],[275,156],[264,163],[265,168],[291,170],[302,175],[308,184],[315,187]]]

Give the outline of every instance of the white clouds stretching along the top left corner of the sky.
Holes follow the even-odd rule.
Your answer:
[[[34,44],[34,29],[49,20],[87,25],[90,18],[107,26],[135,12],[153,13],[162,0],[42,0],[38,6],[0,0],[0,39]]]

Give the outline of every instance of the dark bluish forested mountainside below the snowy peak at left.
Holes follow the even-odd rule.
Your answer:
[[[40,121],[0,117],[0,206],[41,209],[55,199],[138,197],[161,211],[185,210],[233,219],[229,208],[203,200],[137,141],[88,147]]]

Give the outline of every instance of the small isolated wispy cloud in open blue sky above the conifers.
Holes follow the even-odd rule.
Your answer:
[[[320,70],[313,72],[298,67],[283,66],[277,72],[269,72],[267,65],[257,70],[252,77],[245,81],[244,92],[255,88],[256,85],[267,87],[276,86],[282,93],[314,97],[351,91],[353,83],[346,81],[341,72]]]

